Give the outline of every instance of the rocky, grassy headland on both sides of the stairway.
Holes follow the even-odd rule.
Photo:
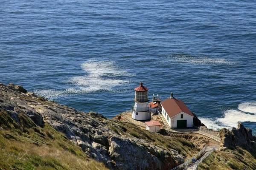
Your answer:
[[[251,130],[239,124],[221,130],[220,137],[221,151],[204,159],[199,170],[256,167]],[[163,136],[0,84],[0,170],[172,169],[215,143],[211,140],[196,134]]]

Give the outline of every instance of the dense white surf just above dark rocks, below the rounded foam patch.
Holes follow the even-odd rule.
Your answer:
[[[256,122],[256,114],[248,114],[237,110],[227,110],[223,116],[218,120],[229,127],[237,127],[239,122]]]

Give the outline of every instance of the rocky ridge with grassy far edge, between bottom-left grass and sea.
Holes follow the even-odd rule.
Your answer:
[[[0,112],[1,130],[12,127],[10,122],[20,126],[20,115],[31,119],[38,129],[47,123],[78,145],[88,158],[103,162],[110,169],[172,169],[184,161],[183,156],[197,152],[185,139],[142,130],[99,113],[76,111],[19,85],[0,84]]]

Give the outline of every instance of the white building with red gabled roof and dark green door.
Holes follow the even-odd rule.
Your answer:
[[[194,115],[185,103],[171,97],[161,102],[161,113],[171,128],[193,127]]]

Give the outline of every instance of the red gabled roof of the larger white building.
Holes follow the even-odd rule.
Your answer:
[[[161,105],[163,106],[164,110],[166,111],[169,117],[175,116],[180,112],[187,113],[190,116],[194,117],[192,112],[189,111],[189,108],[186,107],[185,103],[183,103],[179,99],[168,98],[168,99],[165,99],[163,102],[161,102]]]

